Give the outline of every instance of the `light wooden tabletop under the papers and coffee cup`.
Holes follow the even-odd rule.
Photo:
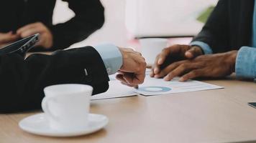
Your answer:
[[[81,137],[41,137],[19,129],[18,122],[37,112],[0,114],[0,142],[241,142],[256,140],[256,83],[207,80],[225,89],[155,97],[127,97],[91,102],[91,112],[110,122]]]

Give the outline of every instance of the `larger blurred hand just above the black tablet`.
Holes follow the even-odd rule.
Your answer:
[[[34,24],[28,24],[17,30],[22,38],[27,36],[32,36],[33,34],[40,34],[40,39],[37,42],[37,46],[42,46],[45,49],[49,49],[53,44],[53,37],[50,30],[41,22],[36,22]]]

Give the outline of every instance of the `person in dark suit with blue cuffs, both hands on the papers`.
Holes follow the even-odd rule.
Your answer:
[[[190,45],[163,50],[151,77],[180,81],[196,77],[256,78],[256,2],[219,0],[201,32]]]

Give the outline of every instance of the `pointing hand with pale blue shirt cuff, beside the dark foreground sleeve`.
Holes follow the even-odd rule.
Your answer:
[[[113,44],[95,46],[104,61],[108,74],[116,74],[116,79],[129,87],[138,87],[145,79],[146,62],[137,51],[118,48]]]

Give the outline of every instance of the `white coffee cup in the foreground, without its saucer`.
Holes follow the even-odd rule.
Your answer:
[[[84,84],[58,84],[45,87],[42,110],[52,129],[84,129],[88,124],[93,87]]]

